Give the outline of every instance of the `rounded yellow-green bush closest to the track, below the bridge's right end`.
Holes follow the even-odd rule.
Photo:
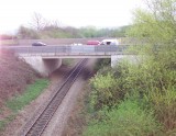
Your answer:
[[[110,72],[105,76],[96,75],[90,80],[90,106],[92,110],[98,111],[105,106],[110,109],[121,100],[122,92],[117,91],[117,80]]]

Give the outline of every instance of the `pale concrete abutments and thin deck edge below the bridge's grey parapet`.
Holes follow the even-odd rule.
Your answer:
[[[54,70],[58,69],[62,66],[63,58],[110,58],[111,67],[114,67],[119,61],[127,59],[132,63],[139,61],[138,57],[134,55],[62,55],[62,56],[21,56],[28,64],[30,64],[35,70],[37,70],[43,76],[51,75]]]

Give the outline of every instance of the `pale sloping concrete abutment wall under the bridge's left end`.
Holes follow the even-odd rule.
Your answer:
[[[50,76],[54,70],[62,65],[61,58],[43,59],[42,57],[23,57],[42,76]]]

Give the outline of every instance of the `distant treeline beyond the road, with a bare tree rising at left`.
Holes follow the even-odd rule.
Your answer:
[[[41,14],[34,13],[31,23],[21,25],[14,35],[1,35],[1,39],[37,39],[37,38],[84,38],[84,37],[124,37],[130,26],[114,29],[97,29],[85,26],[76,29],[64,26],[58,21],[48,21]]]

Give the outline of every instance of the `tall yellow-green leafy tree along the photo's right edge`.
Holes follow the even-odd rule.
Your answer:
[[[129,79],[132,78],[131,86],[138,84],[143,91],[167,132],[176,129],[176,0],[146,0],[146,3],[147,10],[134,12],[134,26],[129,35],[147,39],[139,50],[147,59]]]

